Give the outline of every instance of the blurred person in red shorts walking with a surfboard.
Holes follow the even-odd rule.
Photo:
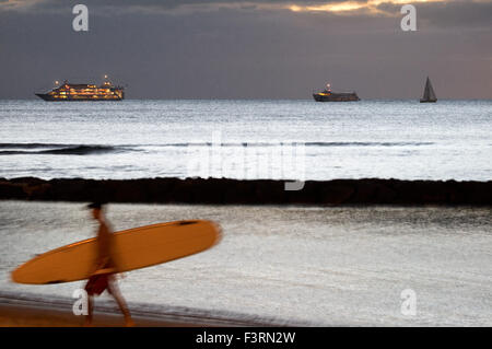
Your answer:
[[[116,303],[125,316],[125,323],[127,326],[133,326],[130,311],[119,292],[118,284],[116,282],[116,266],[112,258],[112,245],[113,233],[106,223],[103,212],[103,205],[101,202],[93,202],[87,206],[92,210],[92,217],[99,223],[97,231],[97,257],[95,265],[93,266],[93,272],[89,279],[85,291],[87,292],[87,315],[85,316],[85,325],[92,325],[93,310],[94,310],[94,295],[99,295],[105,290],[115,299]]]

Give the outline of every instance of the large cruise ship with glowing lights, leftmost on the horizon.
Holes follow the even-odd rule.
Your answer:
[[[79,101],[122,101],[125,88],[115,86],[104,77],[102,85],[90,83],[70,83],[67,80],[59,86],[46,93],[35,93],[39,98],[48,102],[79,102]],[[58,85],[58,81],[56,82]]]

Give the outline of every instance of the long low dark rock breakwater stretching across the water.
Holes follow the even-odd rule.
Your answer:
[[[492,206],[492,181],[331,179],[307,181],[285,190],[289,181],[227,178],[84,179],[0,178],[0,200],[201,205],[395,205]]]

